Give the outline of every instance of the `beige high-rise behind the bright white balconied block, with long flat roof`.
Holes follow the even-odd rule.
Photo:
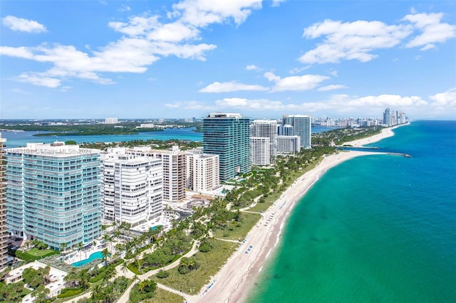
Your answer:
[[[153,156],[162,160],[163,165],[163,200],[180,202],[185,198],[185,151],[179,147],[150,149],[135,147],[128,149],[127,154],[136,156]]]

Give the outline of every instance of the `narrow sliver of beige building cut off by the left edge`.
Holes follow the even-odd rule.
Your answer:
[[[0,133],[0,270],[8,262],[8,230],[6,229],[6,158],[4,143],[6,139]]]

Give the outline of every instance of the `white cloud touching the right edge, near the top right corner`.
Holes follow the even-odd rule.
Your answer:
[[[435,48],[435,43],[445,42],[450,38],[456,37],[456,26],[448,23],[441,23],[443,14],[410,14],[403,18],[404,21],[409,21],[415,28],[422,31],[419,36],[416,36],[406,47],[413,48],[416,46],[424,46],[420,50],[428,50]]]

